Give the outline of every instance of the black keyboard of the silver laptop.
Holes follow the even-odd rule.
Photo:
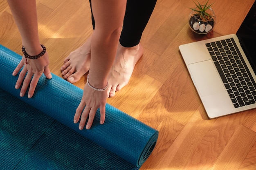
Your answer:
[[[256,103],[256,84],[234,39],[206,44],[234,107]]]

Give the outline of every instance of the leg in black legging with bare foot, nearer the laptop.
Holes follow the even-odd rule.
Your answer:
[[[140,39],[156,0],[128,0],[115,62],[108,75],[108,97],[128,84],[135,64],[143,53]]]

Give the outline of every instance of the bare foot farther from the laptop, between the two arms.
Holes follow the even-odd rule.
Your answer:
[[[61,67],[64,79],[70,83],[77,82],[89,71],[91,61],[91,37],[78,49],[72,51]]]

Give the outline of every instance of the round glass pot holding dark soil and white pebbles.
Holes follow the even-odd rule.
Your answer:
[[[211,18],[202,17],[200,13],[193,11],[189,14],[189,27],[198,34],[207,34],[212,31],[216,24],[216,15],[214,11],[209,8],[206,11],[211,15]]]

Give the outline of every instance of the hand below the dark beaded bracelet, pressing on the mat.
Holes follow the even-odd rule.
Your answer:
[[[23,66],[24,66],[24,68],[22,69]],[[45,76],[48,79],[52,78],[51,72],[49,70],[49,56],[48,56],[47,52],[42,57],[40,57],[38,59],[27,59],[27,64],[26,64],[26,58],[23,55],[20,63],[14,69],[12,75],[16,76],[21,69],[22,69],[22,71],[20,72],[18,80],[15,85],[15,88],[18,89],[18,88],[20,88],[20,86],[23,82],[21,90],[20,90],[20,97],[24,96],[29,84],[30,84],[30,86],[29,86],[29,91],[28,91],[28,98],[31,98],[34,95],[38,80],[41,77],[41,75],[43,75],[43,73],[45,74]],[[26,75],[26,73],[27,73],[27,75]],[[33,76],[33,78],[32,78],[32,76]],[[25,77],[25,79],[24,79],[24,77]],[[23,79],[24,79],[24,81],[23,81]]]

